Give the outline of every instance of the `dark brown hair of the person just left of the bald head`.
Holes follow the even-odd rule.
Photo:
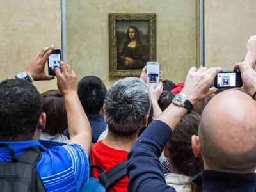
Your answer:
[[[191,147],[191,136],[198,135],[199,115],[195,112],[186,115],[177,125],[166,147],[172,165],[180,173],[193,176],[200,173],[204,166],[201,158],[195,157]]]

